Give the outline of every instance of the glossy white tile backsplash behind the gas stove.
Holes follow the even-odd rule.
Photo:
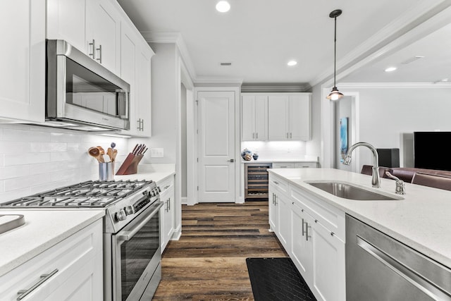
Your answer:
[[[105,150],[116,143],[117,170],[128,149],[124,137],[47,128],[0,124],[0,202],[85,180],[97,180],[97,160],[87,149]]]

